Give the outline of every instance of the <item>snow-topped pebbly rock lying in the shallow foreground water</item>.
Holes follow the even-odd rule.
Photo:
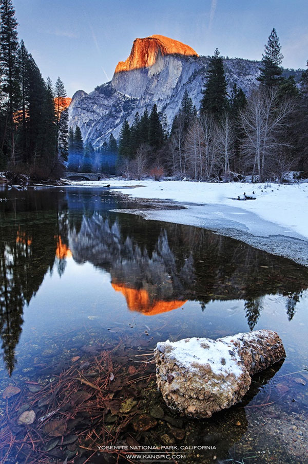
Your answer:
[[[166,404],[203,418],[238,403],[251,376],[285,358],[280,337],[257,330],[211,340],[161,342],[155,350],[156,376]]]

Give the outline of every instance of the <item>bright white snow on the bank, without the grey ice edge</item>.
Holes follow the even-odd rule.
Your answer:
[[[127,186],[136,186],[136,181],[110,179],[112,188],[127,194]],[[204,205],[226,205],[249,211],[261,219],[293,228],[302,237],[308,238],[308,183],[247,184],[208,183],[183,181],[139,181],[140,186],[129,189],[132,198],[173,200]],[[72,182],[72,185],[101,187],[102,183]],[[122,188],[121,188],[122,187]],[[253,201],[237,201],[246,193],[256,197]],[[294,230],[293,230],[294,232]],[[266,233],[266,230],[265,230]]]

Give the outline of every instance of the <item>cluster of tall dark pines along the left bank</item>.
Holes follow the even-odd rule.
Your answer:
[[[22,162],[44,177],[57,167],[58,148],[67,155],[67,113],[55,117],[51,81],[24,42],[18,46],[14,14],[11,0],[0,0],[0,164]]]

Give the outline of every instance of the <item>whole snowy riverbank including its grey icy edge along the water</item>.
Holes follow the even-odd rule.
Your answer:
[[[187,209],[134,210],[156,219],[216,230],[269,253],[308,265],[308,183],[215,184],[185,181],[108,180],[111,189],[132,198],[180,202]],[[74,182],[103,187],[106,181]],[[130,187],[130,188],[127,188]],[[237,201],[243,194],[256,200]]]

